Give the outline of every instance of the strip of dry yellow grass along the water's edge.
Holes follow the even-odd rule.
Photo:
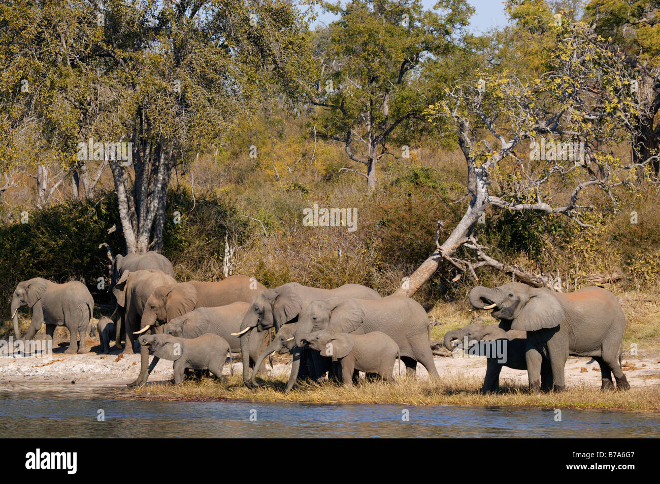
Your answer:
[[[627,392],[571,387],[562,393],[530,393],[523,385],[502,385],[499,394],[480,394],[476,378],[444,377],[440,383],[397,379],[395,383],[360,383],[346,388],[332,383],[304,384],[284,393],[284,379],[262,383],[256,390],[244,387],[240,375],[223,383],[212,379],[186,381],[182,385],[152,383],[133,390],[135,398],[166,400],[228,399],[249,402],[359,403],[397,405],[470,405],[574,408],[599,410],[660,410],[660,389]]]

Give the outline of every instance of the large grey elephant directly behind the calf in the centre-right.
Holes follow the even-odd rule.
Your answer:
[[[296,346],[315,331],[365,335],[381,331],[390,336],[401,350],[401,360],[408,375],[414,375],[417,362],[422,363],[430,378],[438,378],[430,342],[430,323],[424,308],[405,296],[387,296],[380,300],[332,298],[314,301],[298,318]],[[290,387],[296,379],[296,360],[292,364]],[[290,387],[287,387],[288,389]]]

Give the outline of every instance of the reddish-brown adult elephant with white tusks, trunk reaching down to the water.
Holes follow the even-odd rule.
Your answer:
[[[253,277],[240,274],[232,275],[218,282],[189,281],[160,286],[152,292],[147,300],[142,315],[141,329],[135,334],[140,335],[150,328],[152,333],[156,328],[160,333],[162,332],[161,325],[189,313],[193,309],[215,308],[240,301],[252,302],[255,296],[264,289],[265,286]],[[243,344],[241,344],[241,350],[243,350]],[[129,383],[129,387],[147,382],[149,373],[158,363],[158,357],[154,356],[149,365],[149,348],[141,346],[140,362],[140,375],[133,383]]]

